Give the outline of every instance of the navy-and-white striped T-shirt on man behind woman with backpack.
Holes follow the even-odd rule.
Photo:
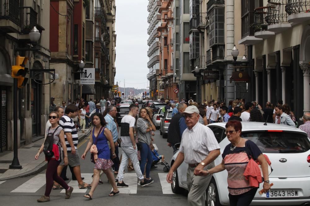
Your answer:
[[[65,144],[67,146],[67,151],[71,151],[71,146],[67,140],[67,133],[71,133],[72,135],[72,141],[74,144],[74,148],[78,149],[78,132],[77,132],[77,128],[75,127],[75,124],[73,122],[73,120],[68,116],[68,115],[64,115],[60,118],[59,120],[59,125],[64,129],[64,141]],[[62,149],[62,148],[61,148]]]

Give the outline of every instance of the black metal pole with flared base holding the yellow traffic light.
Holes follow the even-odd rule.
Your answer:
[[[22,166],[19,164],[18,161],[18,148],[17,148],[17,78],[14,78],[14,96],[13,99],[15,99],[15,101],[13,101],[13,140],[14,140],[14,157],[13,157],[13,161],[12,164],[9,166],[10,169],[21,169]]]

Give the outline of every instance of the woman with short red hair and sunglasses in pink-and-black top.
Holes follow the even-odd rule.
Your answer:
[[[258,187],[252,187],[244,175],[240,175],[244,173],[250,161],[248,153],[250,153],[251,158],[257,160],[262,166],[263,188],[265,191],[270,189],[268,163],[254,142],[241,137],[242,125],[240,121],[231,120],[225,127],[227,138],[231,143],[224,149],[222,163],[210,170],[201,170],[198,175],[206,176],[227,170],[230,206],[247,206],[252,202],[258,189]]]

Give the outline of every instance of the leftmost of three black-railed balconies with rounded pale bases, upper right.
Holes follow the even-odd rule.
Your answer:
[[[274,32],[268,31],[268,25],[266,22],[267,10],[270,9],[268,6],[262,6],[254,9],[254,23],[250,26],[253,27],[254,36],[256,38],[266,39],[272,35]]]

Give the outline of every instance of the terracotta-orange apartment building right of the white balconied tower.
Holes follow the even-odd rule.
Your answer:
[[[158,98],[179,99],[178,94],[174,92],[178,88],[176,82],[176,73],[173,67],[174,50],[173,50],[173,18],[172,11],[173,0],[163,1],[159,7],[159,14],[162,22],[157,28],[159,38],[159,95]],[[162,94],[162,95],[161,95]]]

